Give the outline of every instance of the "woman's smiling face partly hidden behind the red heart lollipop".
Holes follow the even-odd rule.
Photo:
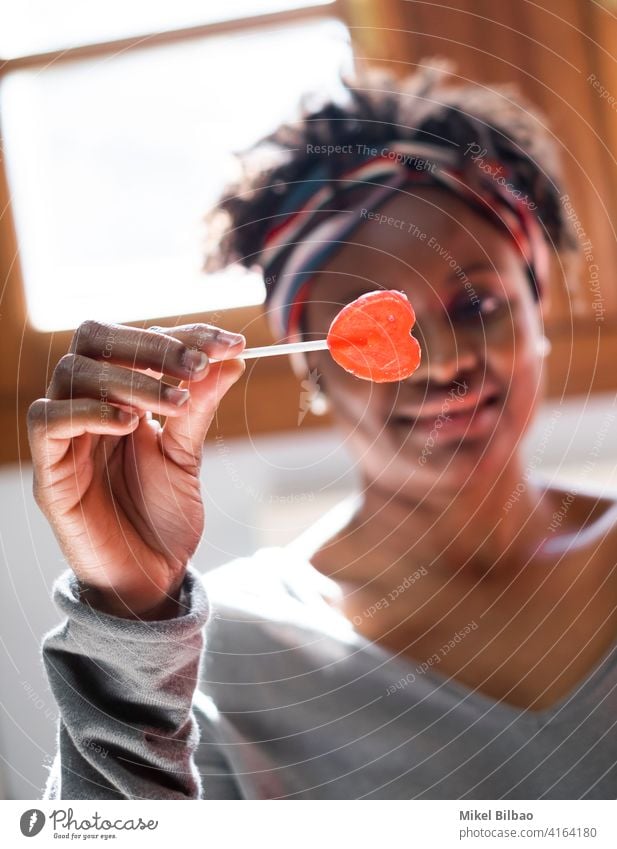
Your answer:
[[[457,490],[478,469],[487,486],[525,432],[542,382],[542,318],[512,240],[442,189],[397,195],[317,275],[306,338],[323,337],[342,305],[398,289],[413,304],[418,370],[371,383],[327,352],[308,355],[365,484],[392,493]],[[383,223],[381,223],[383,222]]]

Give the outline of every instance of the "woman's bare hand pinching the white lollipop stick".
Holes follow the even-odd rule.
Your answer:
[[[30,406],[34,497],[94,607],[174,615],[204,527],[203,441],[244,371],[244,345],[206,324],[139,330],[86,321],[46,397]],[[179,387],[163,374],[181,378]],[[167,417],[163,427],[151,411]]]

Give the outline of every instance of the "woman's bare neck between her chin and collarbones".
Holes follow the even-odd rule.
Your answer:
[[[328,556],[327,543],[315,565],[324,571],[338,562],[330,577],[347,585],[371,581],[381,569],[392,582],[420,566],[444,578],[507,584],[541,551],[552,513],[543,489],[522,481],[522,465],[513,462],[490,485],[476,478],[422,498],[367,484],[356,514],[332,540],[336,556]]]

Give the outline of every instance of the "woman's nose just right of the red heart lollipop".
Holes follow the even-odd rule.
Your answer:
[[[461,372],[472,371],[478,364],[477,353],[467,340],[457,336],[452,324],[419,322],[413,335],[420,342],[422,358],[410,380],[430,380],[433,383],[450,383]]]

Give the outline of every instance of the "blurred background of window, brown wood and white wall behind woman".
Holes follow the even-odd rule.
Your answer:
[[[354,66],[445,56],[548,115],[583,261],[554,269],[530,467],[617,490],[616,49],[608,0],[0,0],[0,797],[39,798],[55,751],[39,646],[66,563],[32,499],[27,408],[86,318],[271,341],[259,277],[201,273],[203,213],[234,150]],[[283,357],[252,361],[227,396],[198,568],[287,542],[353,489],[306,397]]]

